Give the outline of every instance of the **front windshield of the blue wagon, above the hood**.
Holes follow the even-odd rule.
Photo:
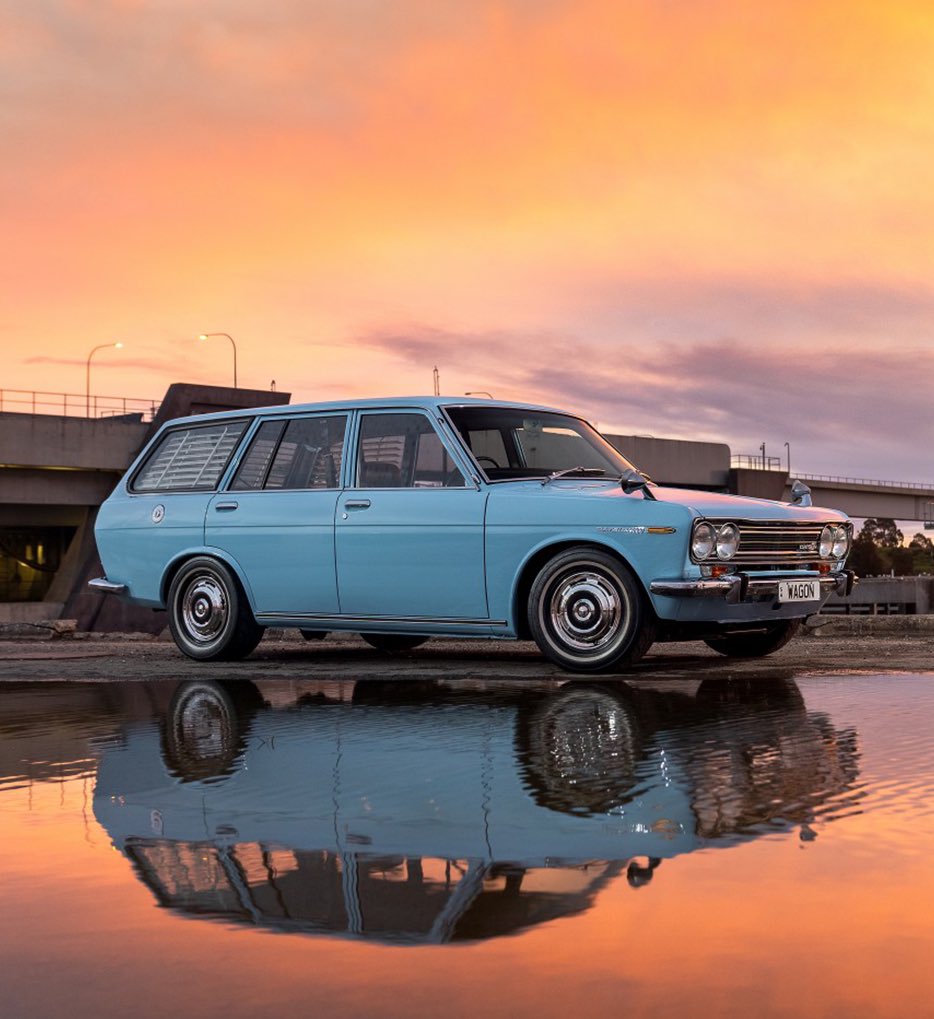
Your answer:
[[[618,478],[633,470],[580,418],[508,407],[449,407],[447,413],[490,481],[547,478],[576,468],[583,477]]]

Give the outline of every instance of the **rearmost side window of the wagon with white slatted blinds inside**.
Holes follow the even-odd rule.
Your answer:
[[[245,421],[212,422],[167,432],[133,479],[134,492],[210,491],[217,487]]]

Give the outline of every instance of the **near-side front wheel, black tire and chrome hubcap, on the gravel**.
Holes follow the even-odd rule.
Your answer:
[[[654,618],[629,570],[584,546],[556,555],[536,577],[529,627],[542,654],[572,673],[626,668],[655,639]]]

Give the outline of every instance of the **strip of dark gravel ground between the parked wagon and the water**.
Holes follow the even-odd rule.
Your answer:
[[[934,673],[934,615],[831,618],[767,658],[724,658],[701,643],[656,644],[624,674],[683,680],[855,673]],[[244,661],[195,662],[165,635],[0,630],[0,682],[189,679],[564,680],[534,644],[435,639],[404,654],[375,651],[353,636],[308,643],[270,632]]]

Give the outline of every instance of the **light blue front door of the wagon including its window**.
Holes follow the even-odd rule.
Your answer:
[[[486,492],[468,483],[427,415],[363,414],[353,487],[337,502],[341,614],[485,622],[485,511]]]

